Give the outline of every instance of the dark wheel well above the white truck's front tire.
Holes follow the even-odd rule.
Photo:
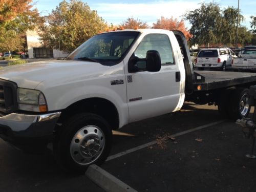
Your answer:
[[[119,116],[115,105],[102,98],[83,99],[71,104],[68,108],[62,110],[58,123],[62,123],[67,118],[82,112],[94,113],[103,117],[113,130],[119,127]]]

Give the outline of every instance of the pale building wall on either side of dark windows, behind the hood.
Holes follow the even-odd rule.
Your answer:
[[[28,30],[27,33],[27,44],[28,44],[28,54],[29,58],[34,58],[34,51],[33,48],[41,48],[44,47],[42,42],[39,40],[39,35],[37,30]],[[54,49],[53,50],[53,57],[58,58],[58,57],[67,57],[68,53],[59,51]]]

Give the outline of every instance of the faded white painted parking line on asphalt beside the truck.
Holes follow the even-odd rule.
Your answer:
[[[226,121],[226,120],[220,120],[220,121],[208,123],[208,124],[205,124],[205,125],[202,125],[202,126],[198,126],[198,127],[196,127],[196,128],[190,129],[190,130],[186,130],[186,131],[183,131],[183,132],[180,132],[180,133],[173,134],[173,135],[171,135],[170,137],[178,137],[178,136],[185,135],[185,134],[188,134],[188,133],[191,133],[191,132],[195,132],[195,131],[198,131],[198,130],[202,130],[202,129],[206,128],[206,127],[213,126],[213,125],[222,123],[222,122],[224,122],[224,121]],[[137,147],[131,148],[130,150],[126,150],[126,151],[124,151],[124,152],[120,152],[120,153],[118,153],[118,154],[109,156],[108,159],[106,159],[106,161],[110,161],[110,160],[112,160],[112,159],[121,157],[121,156],[123,156],[123,155],[136,152],[136,151],[138,151],[138,150],[141,150],[142,148],[145,148],[145,147],[154,145],[154,144],[156,144],[156,143],[157,143],[157,141],[151,141],[151,142],[148,142],[148,143],[146,143],[146,144],[139,145],[139,146],[137,146]]]

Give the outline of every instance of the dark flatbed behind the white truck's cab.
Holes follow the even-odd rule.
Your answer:
[[[199,74],[199,76],[197,75]],[[194,90],[210,91],[215,89],[239,86],[240,84],[256,82],[256,73],[226,72],[226,71],[196,71]],[[200,82],[201,81],[201,82]],[[202,82],[204,81],[204,82]]]

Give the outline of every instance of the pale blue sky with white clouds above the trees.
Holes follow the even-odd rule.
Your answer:
[[[37,8],[41,16],[51,13],[62,0],[33,0],[34,8]],[[68,1],[68,0],[67,0]],[[91,10],[96,10],[98,15],[101,16],[108,24],[118,25],[121,24],[129,17],[138,18],[142,22],[147,22],[152,26],[157,22],[161,16],[170,18],[182,18],[186,11],[195,10],[200,7],[200,3],[215,2],[221,8],[238,7],[238,0],[215,0],[215,1],[202,1],[202,0],[88,0],[83,2],[87,3]],[[69,1],[68,1],[69,2]],[[256,16],[256,1],[255,0],[240,0],[240,10],[245,17],[245,22],[242,26],[250,29],[250,16]],[[189,29],[189,22],[185,21],[185,26]]]

